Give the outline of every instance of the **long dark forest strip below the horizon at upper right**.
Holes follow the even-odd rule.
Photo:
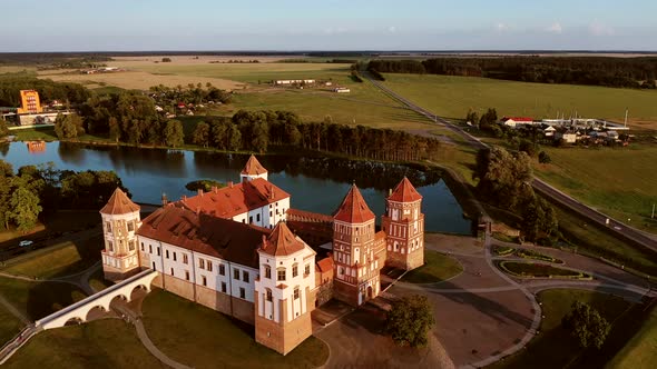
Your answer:
[[[372,60],[369,70],[484,77],[522,82],[656,88],[657,58],[502,57]]]

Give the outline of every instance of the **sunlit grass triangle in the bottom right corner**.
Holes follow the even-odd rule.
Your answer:
[[[640,330],[609,362],[607,368],[654,368],[657,363],[657,309],[644,321]]]

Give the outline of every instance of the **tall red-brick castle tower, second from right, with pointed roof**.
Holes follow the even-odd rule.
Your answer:
[[[360,306],[379,296],[384,259],[375,250],[375,216],[353,184],[333,216],[333,293]]]

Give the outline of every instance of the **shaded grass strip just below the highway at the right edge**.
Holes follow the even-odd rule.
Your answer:
[[[654,252],[618,240],[559,207],[555,207],[555,210],[559,219],[559,230],[576,252],[601,256],[640,272],[657,276],[657,258]]]

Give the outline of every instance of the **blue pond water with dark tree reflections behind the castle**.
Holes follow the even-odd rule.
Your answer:
[[[29,149],[26,142],[12,142],[0,147],[0,159],[10,162],[14,171],[22,166],[50,161],[60,170],[114,170],[133,193],[134,201],[160,203],[163,192],[169,200],[193,195],[185,189],[193,180],[237,182],[248,156],[63,142],[47,142],[45,148],[32,146]],[[268,180],[291,193],[293,208],[327,215],[337,209],[355,181],[380,219],[386,189],[408,176],[423,196],[426,231],[470,233],[471,221],[463,218],[455,198],[444,181],[433,178],[435,176],[422,180],[424,173],[415,169],[346,159],[262,156],[258,160],[267,168]],[[422,181],[420,184],[425,186],[418,186]]]

